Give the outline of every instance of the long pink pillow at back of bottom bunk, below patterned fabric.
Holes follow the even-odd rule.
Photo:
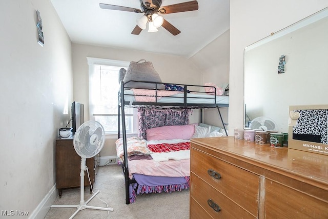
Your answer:
[[[193,124],[183,126],[161,126],[146,130],[147,141],[190,139],[195,132]]]

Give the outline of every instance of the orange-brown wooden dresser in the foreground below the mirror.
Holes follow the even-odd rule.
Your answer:
[[[328,156],[195,138],[190,218],[328,218]]]

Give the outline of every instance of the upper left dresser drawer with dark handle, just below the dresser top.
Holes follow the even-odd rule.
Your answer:
[[[257,217],[260,181],[258,175],[193,148],[190,150],[190,156],[190,169],[193,173]],[[211,174],[217,172],[221,177],[214,178],[208,171]]]

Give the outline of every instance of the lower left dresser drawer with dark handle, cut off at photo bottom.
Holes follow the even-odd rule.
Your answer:
[[[213,218],[255,218],[195,174],[191,173],[190,180],[192,198]],[[209,200],[210,204],[217,205],[220,211],[215,211]]]

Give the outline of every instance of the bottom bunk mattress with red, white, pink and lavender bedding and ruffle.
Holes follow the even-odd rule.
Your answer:
[[[137,137],[127,139],[129,178],[134,178],[137,182],[129,185],[130,203],[135,202],[138,194],[173,192],[189,188],[190,141],[148,143]],[[155,152],[157,150],[168,152]],[[123,164],[121,138],[116,141],[116,151],[119,163]]]

